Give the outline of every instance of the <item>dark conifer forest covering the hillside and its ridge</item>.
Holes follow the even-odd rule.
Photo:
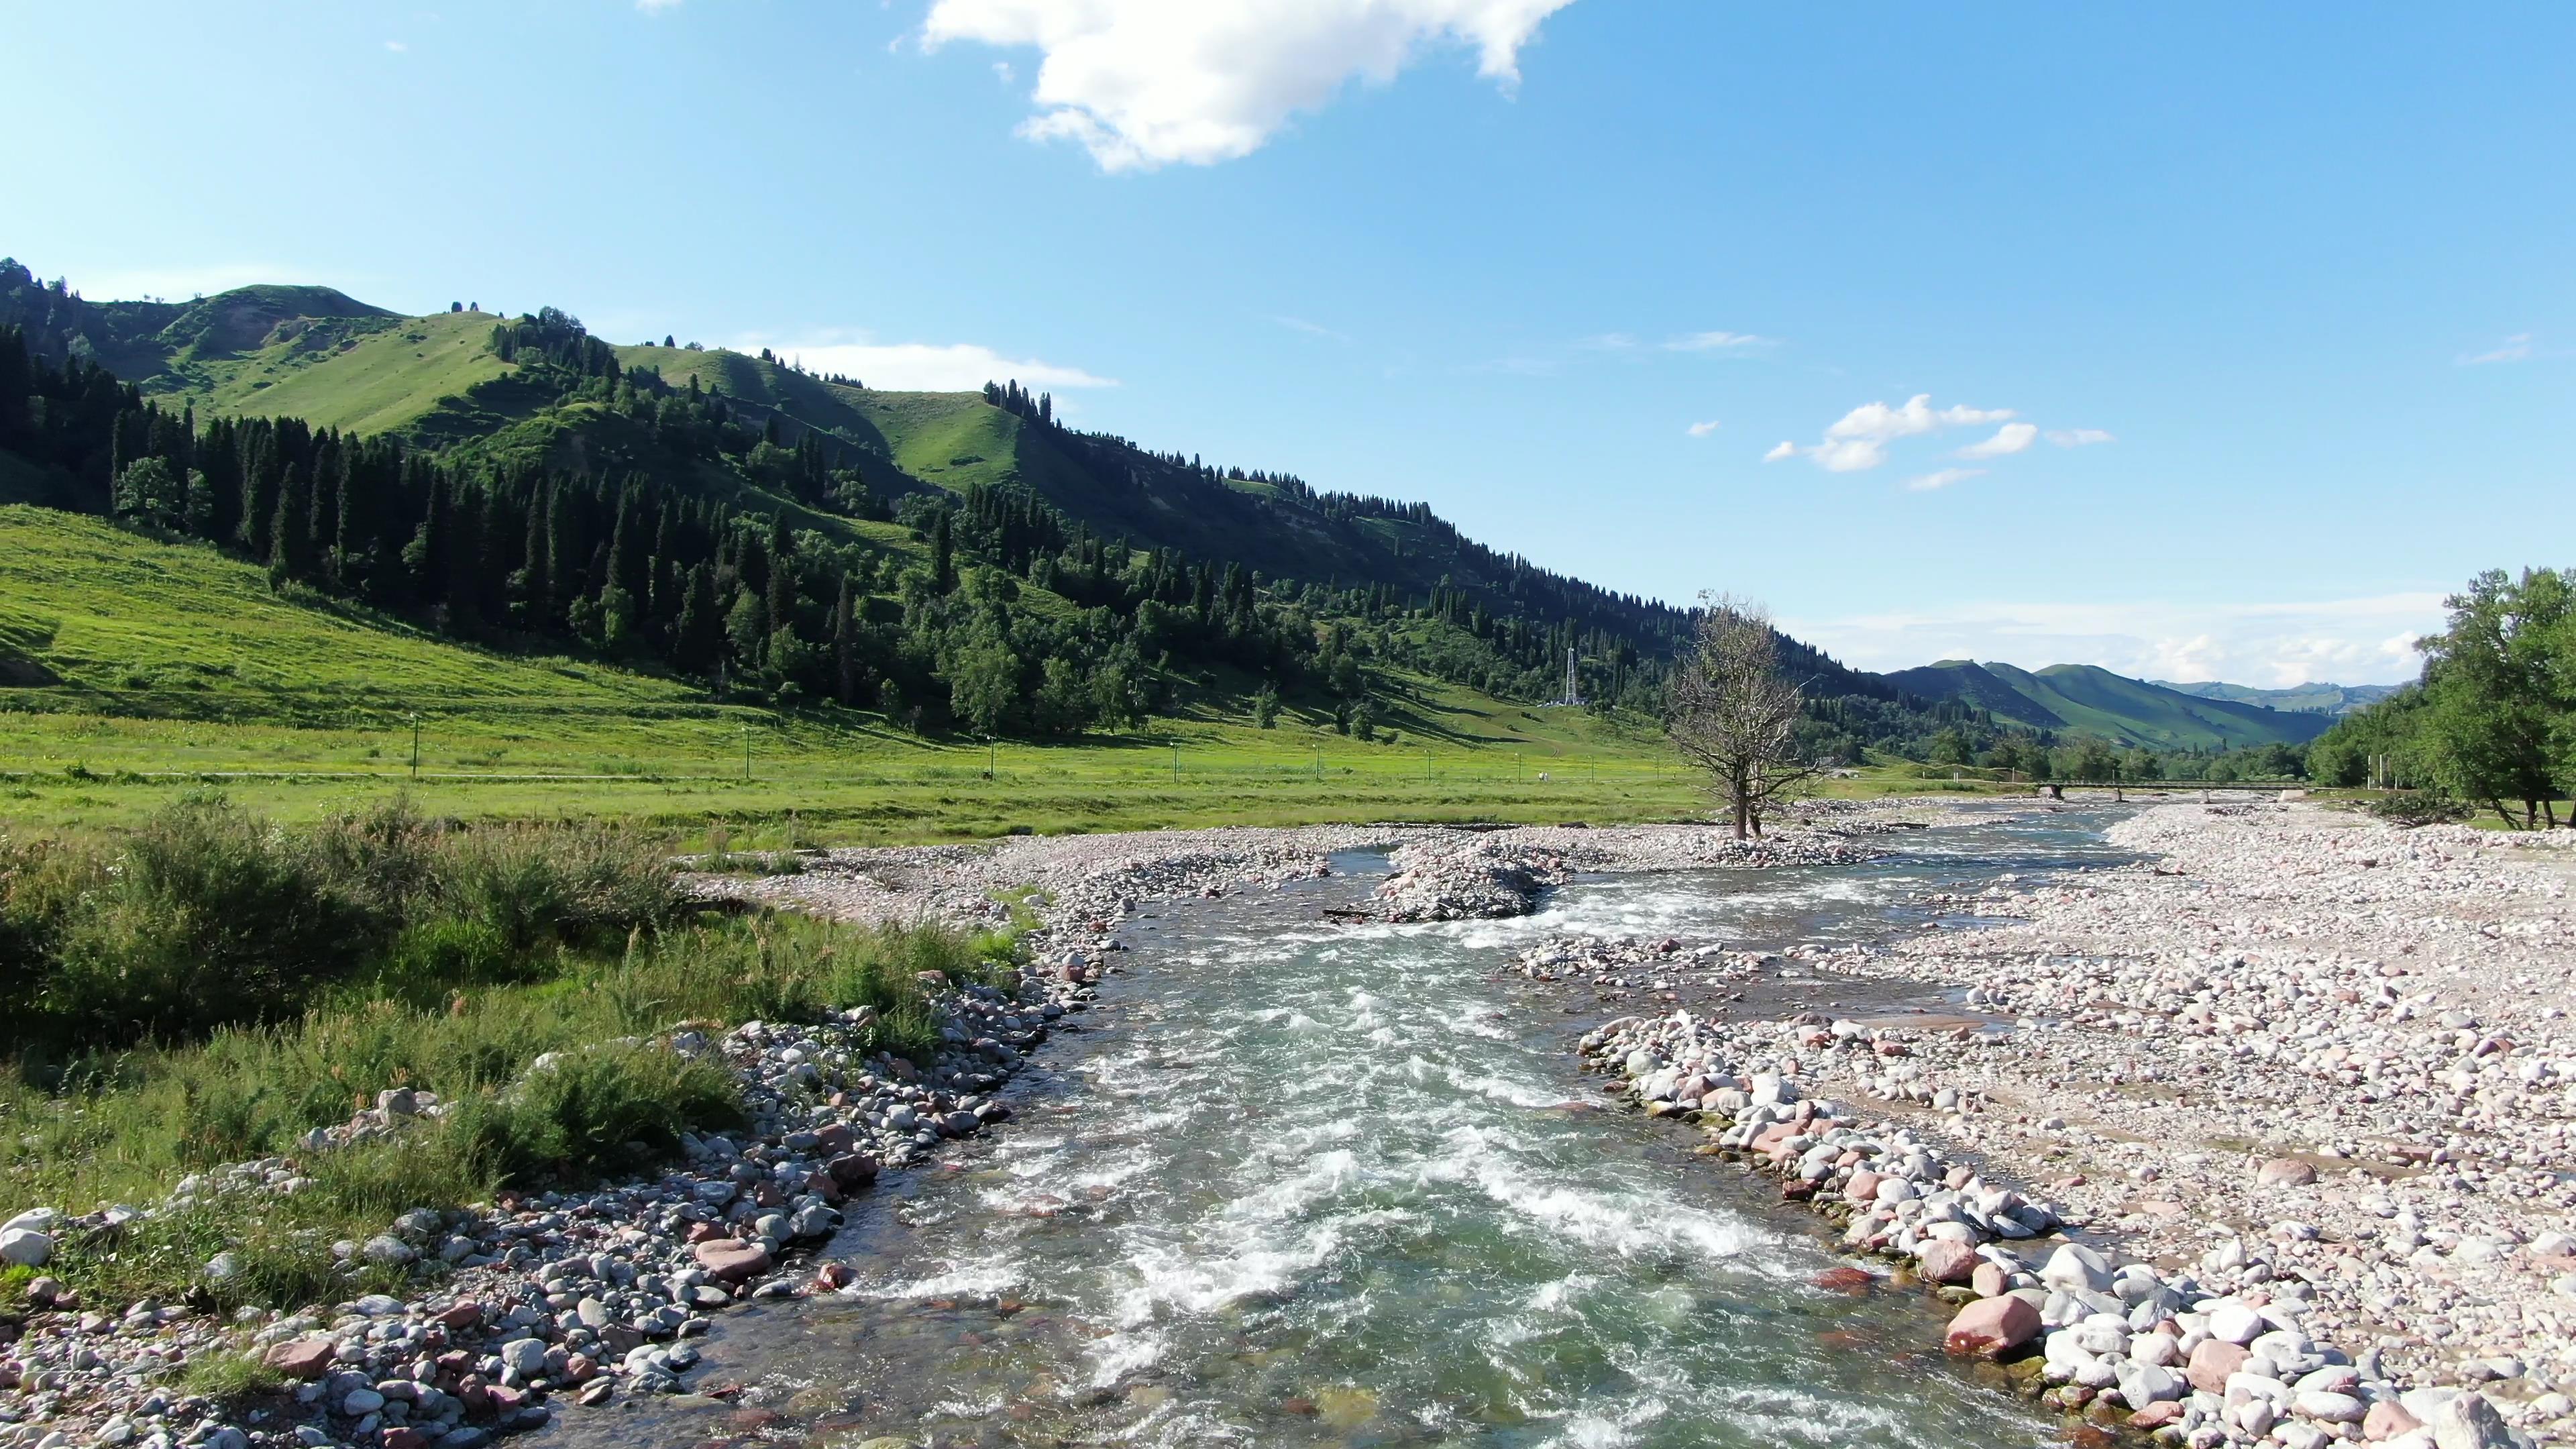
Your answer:
[[[0,327],[0,449],[67,480],[62,505],[211,541],[265,565],[281,590],[459,639],[585,647],[729,696],[829,699],[917,730],[1059,735],[1144,722],[1188,688],[1255,688],[1265,722],[1301,699],[1365,732],[1386,714],[1373,670],[1543,701],[1564,691],[1569,650],[1592,709],[1651,714],[1690,632],[1690,611],[1486,549],[1422,503],[1069,431],[1048,394],[1018,382],[987,384],[987,402],[1048,428],[1103,490],[1133,490],[1144,472],[1213,490],[1188,495],[1211,505],[1200,523],[1221,521],[1200,541],[1324,529],[1360,549],[1342,557],[1386,559],[1391,541],[1396,562],[1363,580],[1265,578],[1092,526],[1018,485],[956,498],[896,474],[896,500],[871,487],[886,469],[873,451],[696,376],[672,387],[623,366],[551,307],[492,327],[492,353],[515,371],[487,387],[551,400],[608,464],[559,467],[567,451],[528,443],[546,433],[526,428],[440,433],[433,420],[404,441],[294,418],[201,423],[62,345],[85,304],[21,281],[15,315],[49,322],[41,338]],[[1151,529],[1167,511],[1170,495],[1133,516]],[[899,521],[917,547],[866,541],[835,516]],[[1072,608],[1030,608],[1023,588]],[[1780,655],[1819,701],[1814,740],[1839,758],[1924,737],[1919,701],[1875,676],[1793,639]]]

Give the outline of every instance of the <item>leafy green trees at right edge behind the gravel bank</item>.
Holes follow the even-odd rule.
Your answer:
[[[2555,828],[2576,792],[2576,572],[2488,570],[2447,608],[2447,627],[2419,645],[2424,678],[2316,737],[2308,771]]]

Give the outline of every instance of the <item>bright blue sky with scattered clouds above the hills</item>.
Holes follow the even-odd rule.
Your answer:
[[[1870,668],[2568,562],[2576,8],[21,5],[0,253],[987,371]]]

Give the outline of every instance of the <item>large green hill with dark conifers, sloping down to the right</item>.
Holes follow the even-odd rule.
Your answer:
[[[554,309],[402,317],[319,286],[88,302],[8,260],[0,327],[54,394],[41,415],[77,418],[15,451],[0,438],[0,503],[139,511],[363,627],[621,660],[677,691],[1043,737],[1249,714],[1275,688],[1327,724],[1412,714],[1437,737],[1404,681],[1535,704],[1571,650],[1587,699],[1651,709],[1690,632],[1687,611],[1486,549],[1427,505],[1066,428],[1018,384],[889,392],[613,345]],[[137,456],[162,464],[162,492],[111,490]],[[1783,650],[1837,701],[1821,748],[1927,735],[1878,676]],[[255,650],[209,657],[234,655]],[[21,673],[118,709],[222,694],[170,694],[157,657],[118,657],[144,681],[118,686],[108,657]],[[273,657],[270,694],[330,652]]]

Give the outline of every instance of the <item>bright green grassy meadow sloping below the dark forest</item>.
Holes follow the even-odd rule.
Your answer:
[[[1242,694],[1190,688],[1139,735],[922,740],[873,714],[781,717],[595,660],[456,645],[278,596],[211,547],[0,508],[0,830],[129,822],[209,784],[286,820],[402,792],[435,815],[631,817],[737,843],[1700,807],[1662,740],[1574,709],[1396,673],[1394,743],[1360,743],[1298,706],[1260,730]]]

